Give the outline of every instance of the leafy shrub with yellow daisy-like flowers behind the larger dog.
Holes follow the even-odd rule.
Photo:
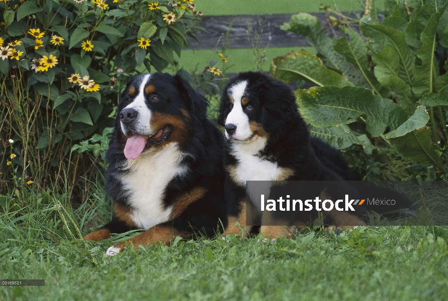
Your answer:
[[[113,126],[129,76],[176,64],[200,30],[193,1],[2,0],[0,192],[9,139],[24,183],[91,173],[88,156],[68,160],[72,145]]]

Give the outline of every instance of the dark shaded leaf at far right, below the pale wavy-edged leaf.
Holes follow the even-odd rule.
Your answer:
[[[391,138],[389,141],[398,153],[412,162],[441,167],[440,157],[435,152],[428,126],[401,137]]]

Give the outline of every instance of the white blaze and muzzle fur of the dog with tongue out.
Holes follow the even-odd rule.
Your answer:
[[[151,111],[145,103],[145,86],[148,82],[151,74],[146,74],[138,88],[138,95],[134,98],[134,101],[128,105],[126,108],[133,108],[138,112],[137,122],[135,125],[135,131],[142,135],[152,135],[154,134],[150,127]],[[121,130],[126,134],[123,122],[120,121]]]

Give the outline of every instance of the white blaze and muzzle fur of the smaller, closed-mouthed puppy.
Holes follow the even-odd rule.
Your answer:
[[[252,135],[252,131],[249,127],[249,117],[244,112],[241,104],[241,99],[243,98],[247,85],[248,82],[245,80],[229,88],[230,96],[234,99],[234,107],[229,115],[227,115],[226,124],[232,123],[237,126],[237,131],[233,136],[235,139],[239,140],[245,140]],[[228,132],[226,132],[226,137],[228,139],[231,138]]]

